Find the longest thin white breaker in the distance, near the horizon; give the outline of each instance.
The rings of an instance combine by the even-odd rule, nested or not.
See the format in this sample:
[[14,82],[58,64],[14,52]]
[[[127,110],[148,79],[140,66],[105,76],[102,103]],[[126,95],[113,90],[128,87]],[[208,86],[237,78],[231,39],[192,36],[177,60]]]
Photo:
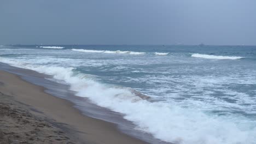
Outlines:
[[135,52],[135,51],[103,51],[103,50],[84,50],[84,49],[72,49],[72,51],[80,51],[80,52],[96,52],[96,53],[120,53],[120,54],[130,54],[130,55],[143,55],[146,52]]

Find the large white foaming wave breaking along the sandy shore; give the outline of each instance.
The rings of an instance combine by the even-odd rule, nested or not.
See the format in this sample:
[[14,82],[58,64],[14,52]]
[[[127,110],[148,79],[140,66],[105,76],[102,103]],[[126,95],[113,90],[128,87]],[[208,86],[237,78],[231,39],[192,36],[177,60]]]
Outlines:
[[183,108],[174,101],[150,102],[137,97],[137,92],[129,88],[97,82],[71,67],[32,65],[4,58],[0,61],[65,81],[77,96],[124,113],[124,118],[135,123],[137,130],[151,133],[162,141],[180,144],[253,144],[256,141],[255,125],[246,125],[248,120],[244,117],[206,115],[193,107]]

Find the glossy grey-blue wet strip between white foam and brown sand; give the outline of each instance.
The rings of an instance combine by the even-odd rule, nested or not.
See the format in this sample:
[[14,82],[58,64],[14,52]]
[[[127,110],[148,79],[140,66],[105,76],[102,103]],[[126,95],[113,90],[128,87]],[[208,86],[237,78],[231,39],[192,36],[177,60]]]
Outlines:
[[155,139],[151,134],[142,133],[141,131],[135,130],[136,125],[130,121],[127,121],[126,119],[123,119],[123,114],[110,111],[105,107],[97,106],[91,103],[88,98],[75,96],[75,92],[70,91],[68,85],[51,81],[50,75],[40,74],[33,70],[12,67],[4,63],[0,63],[0,70],[5,70],[9,73],[19,75],[21,79],[44,87],[44,92],[71,101],[73,104],[75,104],[74,107],[80,110],[80,112],[86,116],[116,124],[117,128],[127,135],[136,137],[137,139],[141,139],[148,143],[168,143]]

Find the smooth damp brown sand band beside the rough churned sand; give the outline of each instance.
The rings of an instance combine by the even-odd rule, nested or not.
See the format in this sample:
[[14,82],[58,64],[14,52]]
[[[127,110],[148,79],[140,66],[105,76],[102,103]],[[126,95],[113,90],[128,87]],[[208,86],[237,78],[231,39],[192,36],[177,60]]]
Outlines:
[[24,81],[18,75],[0,70],[0,78],[0,92],[28,105],[34,109],[29,112],[44,117],[45,122],[54,122],[76,143],[146,143],[121,133],[115,124],[83,115],[68,100],[47,94],[43,87]]

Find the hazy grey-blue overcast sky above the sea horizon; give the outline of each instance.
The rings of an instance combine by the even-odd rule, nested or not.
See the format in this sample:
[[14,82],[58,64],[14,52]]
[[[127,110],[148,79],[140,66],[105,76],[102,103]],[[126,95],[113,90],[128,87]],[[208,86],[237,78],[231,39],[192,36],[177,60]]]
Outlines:
[[256,45],[255,0],[0,0],[0,44]]

